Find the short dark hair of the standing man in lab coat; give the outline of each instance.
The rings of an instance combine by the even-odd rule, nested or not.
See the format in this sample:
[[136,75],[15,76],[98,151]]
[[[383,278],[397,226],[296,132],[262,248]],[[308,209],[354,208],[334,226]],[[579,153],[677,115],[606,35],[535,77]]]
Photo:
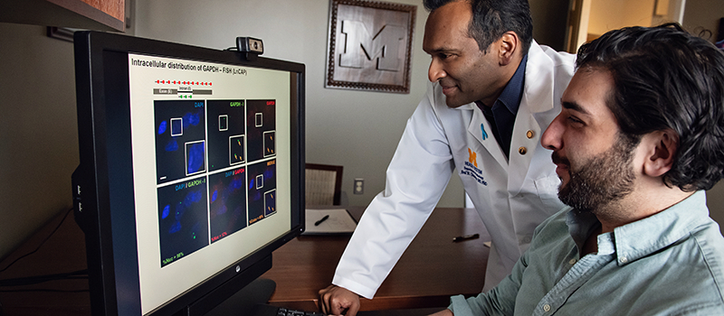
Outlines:
[[472,19],[468,34],[478,42],[481,51],[487,53],[492,42],[512,31],[520,38],[523,54],[528,53],[533,41],[533,20],[528,0],[424,0],[423,5],[427,11],[433,12],[456,1],[471,4]]

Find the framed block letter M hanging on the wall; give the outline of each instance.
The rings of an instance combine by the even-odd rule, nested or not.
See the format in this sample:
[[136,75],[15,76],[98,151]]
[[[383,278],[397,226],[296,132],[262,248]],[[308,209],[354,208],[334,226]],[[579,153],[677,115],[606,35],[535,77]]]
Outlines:
[[325,88],[410,93],[416,5],[329,1]]

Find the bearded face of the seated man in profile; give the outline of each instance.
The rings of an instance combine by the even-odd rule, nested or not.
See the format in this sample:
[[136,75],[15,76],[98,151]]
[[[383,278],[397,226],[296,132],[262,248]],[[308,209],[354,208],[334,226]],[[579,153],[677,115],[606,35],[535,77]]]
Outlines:
[[541,144],[553,150],[561,179],[558,197],[576,209],[595,212],[633,191],[637,142],[619,133],[606,107],[613,88],[608,71],[576,71],[561,98],[561,113],[541,137]]

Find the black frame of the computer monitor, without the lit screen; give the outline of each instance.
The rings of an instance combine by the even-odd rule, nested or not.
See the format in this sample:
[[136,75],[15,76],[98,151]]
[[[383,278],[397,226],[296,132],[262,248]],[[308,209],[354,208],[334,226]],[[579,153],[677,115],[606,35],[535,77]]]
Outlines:
[[[271,252],[304,230],[304,87],[303,64],[255,58],[116,33],[78,32],[75,42],[76,97],[81,163],[73,173],[75,219],[86,236],[93,315],[138,315],[135,204],[133,192],[128,53],[204,60],[291,71],[291,228],[281,237],[239,258],[233,265],[188,289],[149,314],[204,314],[271,268]],[[125,56],[125,57],[124,57]],[[125,60],[124,60],[125,59]],[[128,66],[125,66],[128,69]],[[122,72],[122,71],[116,71]],[[124,91],[124,88],[125,91]],[[296,102],[294,102],[296,101]],[[114,145],[109,145],[114,144]],[[295,185],[298,184],[298,185]]]

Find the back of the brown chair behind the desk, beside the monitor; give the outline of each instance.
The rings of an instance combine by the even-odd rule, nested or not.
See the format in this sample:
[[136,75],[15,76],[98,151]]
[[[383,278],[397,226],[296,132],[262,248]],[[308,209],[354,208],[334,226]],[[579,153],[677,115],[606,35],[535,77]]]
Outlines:
[[340,204],[343,168],[338,165],[307,163],[307,206]]

